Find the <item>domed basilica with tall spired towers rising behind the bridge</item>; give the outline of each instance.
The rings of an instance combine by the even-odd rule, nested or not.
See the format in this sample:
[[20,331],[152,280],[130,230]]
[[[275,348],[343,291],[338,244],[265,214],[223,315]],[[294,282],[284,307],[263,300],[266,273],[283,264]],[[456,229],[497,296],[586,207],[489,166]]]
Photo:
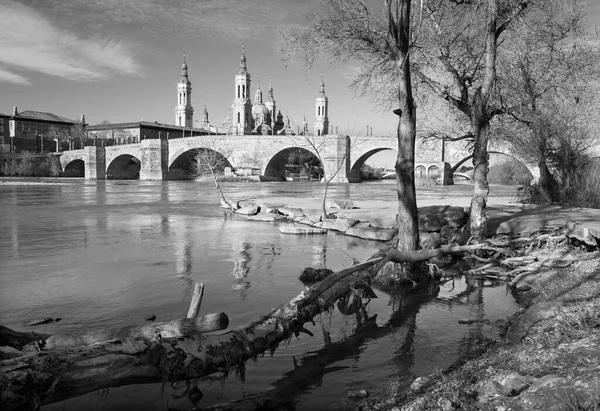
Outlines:
[[[263,92],[260,89],[260,81],[254,92],[254,100],[250,98],[250,73],[246,67],[246,55],[242,46],[240,67],[234,80],[234,98],[229,109],[229,115],[221,126],[213,126],[208,121],[208,112],[204,107],[202,122],[199,125],[210,133],[234,134],[234,135],[294,135],[309,134],[306,118],[302,121],[302,127],[293,130],[290,127],[290,119],[284,121],[281,110],[277,110],[277,104],[273,97],[273,85],[269,79],[266,101],[263,100]],[[325,82],[321,77],[319,94],[315,100],[315,128],[314,134],[326,135],[329,133],[329,108],[328,99],[325,95]],[[194,128],[194,108],[192,107],[192,82],[188,76],[188,67],[183,56],[181,66],[181,77],[177,83],[177,105],[175,106],[175,125],[183,128]]]

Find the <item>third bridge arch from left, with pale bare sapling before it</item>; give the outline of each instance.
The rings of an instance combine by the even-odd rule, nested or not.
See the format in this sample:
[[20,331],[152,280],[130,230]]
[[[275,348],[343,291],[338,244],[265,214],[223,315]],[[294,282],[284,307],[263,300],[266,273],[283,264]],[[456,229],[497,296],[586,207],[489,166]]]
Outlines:
[[[200,155],[202,158],[198,158]],[[210,168],[222,172],[225,167],[232,167],[231,162],[217,150],[207,147],[181,148],[169,158],[169,179],[194,179],[210,173]]]

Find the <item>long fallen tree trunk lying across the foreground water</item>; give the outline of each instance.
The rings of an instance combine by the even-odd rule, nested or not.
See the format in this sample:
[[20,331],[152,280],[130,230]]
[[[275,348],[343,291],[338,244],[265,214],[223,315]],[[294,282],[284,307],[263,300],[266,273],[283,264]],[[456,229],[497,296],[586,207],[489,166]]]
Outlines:
[[[374,277],[387,261],[425,261],[443,253],[484,249],[498,251],[486,244],[474,244],[436,250],[382,252],[376,258],[332,274],[259,320],[221,335],[188,336],[186,327],[193,323],[193,331],[199,320],[184,319],[175,322],[184,329],[177,337],[166,337],[171,334],[165,332],[163,335],[162,329],[157,332],[159,324],[150,324],[142,327],[150,327],[147,333],[138,329],[126,333],[124,338],[96,340],[92,345],[73,346],[65,342],[51,345],[47,339],[46,348],[40,345],[40,353],[24,353],[0,362],[0,402],[6,410],[36,409],[108,387],[200,378],[219,371],[241,370],[245,361],[274,351],[293,335],[312,335],[304,328],[306,322],[332,309],[354,284]],[[367,269],[369,271],[365,271]]]

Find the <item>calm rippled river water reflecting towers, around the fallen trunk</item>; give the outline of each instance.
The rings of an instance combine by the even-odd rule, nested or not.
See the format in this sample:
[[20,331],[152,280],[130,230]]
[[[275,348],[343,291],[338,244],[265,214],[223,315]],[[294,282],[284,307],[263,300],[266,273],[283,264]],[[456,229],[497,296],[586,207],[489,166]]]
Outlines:
[[[232,198],[320,197],[314,183],[228,183]],[[395,201],[394,182],[339,185],[332,197]],[[471,187],[421,187],[419,198],[443,198]],[[41,333],[83,332],[185,316],[193,285],[205,284],[201,313],[225,311],[230,329],[288,302],[306,266],[333,270],[364,261],[380,245],[329,233],[280,234],[277,224],[247,221],[219,209],[214,187],[192,181],[58,180],[0,185],[0,324]],[[481,284],[479,284],[481,285]],[[378,291],[369,325],[339,312],[246,366],[245,380],[202,381],[199,406],[275,389],[296,410],[353,409],[352,389],[406,389],[446,368],[497,330],[493,321],[517,306],[503,286],[457,279],[438,292]],[[460,325],[485,318],[492,325]],[[60,322],[26,327],[32,318]],[[147,384],[91,393],[47,410],[189,409],[181,387]]]

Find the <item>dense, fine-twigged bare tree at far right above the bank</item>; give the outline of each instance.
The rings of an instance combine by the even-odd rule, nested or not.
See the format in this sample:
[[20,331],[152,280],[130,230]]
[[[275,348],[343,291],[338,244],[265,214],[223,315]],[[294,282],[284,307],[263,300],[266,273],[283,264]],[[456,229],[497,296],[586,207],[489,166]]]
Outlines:
[[[569,7],[539,4],[509,37],[499,59],[507,129],[503,139],[540,169],[546,201],[558,200],[558,183],[570,186],[591,144],[587,125],[598,116],[598,46],[585,32],[585,0]],[[569,158],[569,160],[567,160]]]

